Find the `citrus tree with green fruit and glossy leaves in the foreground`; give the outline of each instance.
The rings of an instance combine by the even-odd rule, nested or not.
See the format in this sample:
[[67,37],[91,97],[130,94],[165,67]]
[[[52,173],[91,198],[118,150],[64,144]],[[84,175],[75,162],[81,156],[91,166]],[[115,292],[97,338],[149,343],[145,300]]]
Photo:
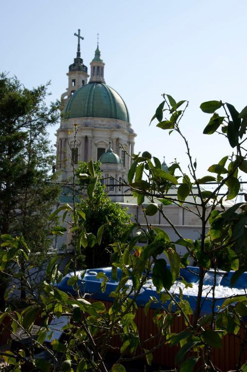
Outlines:
[[[178,346],[177,354],[173,360],[171,370],[180,372],[190,371],[219,371],[214,363],[212,354],[214,348],[220,347],[222,340],[228,334],[237,335],[240,342],[239,355],[235,356],[235,371],[246,371],[247,365],[242,358],[247,340],[247,295],[231,294],[215,306],[215,287],[220,267],[226,272],[233,270],[231,286],[246,271],[246,257],[244,248],[247,240],[247,204],[244,202],[234,204],[226,209],[224,198],[234,200],[237,196],[239,183],[239,170],[247,172],[247,150],[245,149],[247,108],[238,112],[231,104],[222,101],[204,102],[200,108],[212,114],[204,134],[213,135],[215,132],[226,137],[232,147],[232,154],[225,155],[208,169],[210,174],[197,177],[197,163],[192,158],[189,144],[182,134],[180,122],[188,106],[187,101],[176,102],[170,95],[164,95],[163,101],[157,108],[152,121],[158,120],[157,126],[163,130],[176,132],[184,140],[188,155],[189,172],[184,172],[180,164],[175,161],[168,169],[163,171],[158,158],[152,157],[148,152],[142,155],[132,155],[133,163],[128,175],[128,185],[137,199],[138,205],[143,208],[146,226],[137,222],[129,223],[122,233],[120,241],[111,246],[113,253],[110,257],[112,264],[111,278],[104,272],[98,273],[101,292],[106,291],[109,279],[115,281],[116,286],[110,294],[112,302],[106,304],[102,301],[85,299],[83,286],[80,280],[85,272],[77,272],[67,277],[67,285],[76,297],[58,289],[57,283],[62,280],[56,259],[53,259],[47,269],[47,280],[43,285],[43,294],[40,298],[33,296],[25,310],[12,312],[11,306],[0,315],[0,321],[10,317],[9,327],[12,332],[17,327],[31,332],[37,316],[43,320],[37,339],[32,339],[28,358],[23,350],[16,348],[11,352],[3,352],[3,358],[9,362],[9,370],[20,371],[25,363],[41,371],[111,371],[124,372],[128,361],[146,358],[151,364],[152,354],[158,348]],[[166,117],[163,118],[164,112]],[[90,177],[91,176],[91,177]],[[89,198],[97,185],[98,177],[95,174],[92,161],[88,163],[88,173],[82,177],[89,178],[87,186]],[[201,185],[215,182],[213,191],[205,191]],[[175,187],[176,195],[168,196],[171,187]],[[227,189],[223,196],[222,188]],[[190,201],[185,202],[190,196]],[[148,199],[146,205],[145,198]],[[144,204],[145,202],[145,204]],[[196,214],[201,221],[200,238],[198,240],[186,239],[166,215],[166,205],[175,203],[187,212]],[[92,242],[100,245],[103,236],[103,225],[97,233],[90,235],[85,229],[80,231],[79,217],[85,218],[82,211],[73,206],[64,205],[53,213],[51,218],[64,211],[64,217],[71,214],[72,229],[78,232],[75,254],[81,252]],[[177,238],[171,240],[168,234],[149,223],[149,216],[161,213],[176,233]],[[74,225],[73,225],[74,224]],[[56,228],[62,233],[64,227]],[[4,244],[0,252],[0,269],[4,270],[6,262],[18,261],[21,255],[28,256],[28,247],[23,239],[2,237]],[[140,247],[138,241],[146,243]],[[186,248],[182,257],[177,247]],[[166,260],[161,257],[163,255]],[[192,283],[181,277],[181,272],[191,273],[188,267],[191,258],[198,266],[198,287],[196,293],[195,309],[191,308],[183,289],[191,287]],[[169,260],[169,265],[166,261]],[[185,270],[185,271],[184,271]],[[213,281],[206,293],[203,294],[203,282],[209,270],[213,273]],[[180,279],[180,286],[176,294],[173,285]],[[63,279],[65,280],[65,279]],[[154,295],[150,296],[144,311],[147,315],[153,303],[156,310],[153,322],[156,325],[155,333],[149,334],[148,340],[140,337],[140,328],[136,324],[137,300],[144,286],[154,287]],[[204,316],[202,307],[205,299],[210,296],[211,312]],[[56,315],[66,315],[68,324],[63,328],[66,338],[63,342],[54,340],[48,348],[44,343],[46,336],[51,332],[49,320]],[[172,332],[171,327],[178,317],[184,321],[184,328],[179,332]],[[239,330],[242,329],[240,336]],[[119,355],[114,365],[107,367],[105,363],[107,352],[112,349],[111,340],[117,337],[120,343]],[[147,347],[148,341],[152,347]],[[34,357],[34,346],[38,350],[45,350],[48,359]],[[175,366],[175,367],[174,367]]]

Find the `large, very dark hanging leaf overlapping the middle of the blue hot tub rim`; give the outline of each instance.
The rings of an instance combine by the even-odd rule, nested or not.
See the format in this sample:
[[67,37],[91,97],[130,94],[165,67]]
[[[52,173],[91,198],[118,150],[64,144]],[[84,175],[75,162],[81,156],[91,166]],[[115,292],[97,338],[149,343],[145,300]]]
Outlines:
[[152,271],[153,285],[156,287],[157,293],[160,293],[163,288],[170,289],[172,285],[172,274],[166,267],[166,262],[163,258],[155,261]]

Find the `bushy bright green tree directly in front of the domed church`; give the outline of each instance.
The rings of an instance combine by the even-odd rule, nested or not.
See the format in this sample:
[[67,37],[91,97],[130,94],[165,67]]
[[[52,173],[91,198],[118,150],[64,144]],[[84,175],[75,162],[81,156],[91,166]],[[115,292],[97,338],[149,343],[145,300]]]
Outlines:
[[[90,165],[90,169],[88,169],[88,165]],[[99,166],[99,161],[93,164],[94,172],[100,178]],[[92,180],[95,180],[93,169],[90,163],[79,164],[76,173],[82,190],[92,185]],[[85,178],[80,174],[88,174],[89,177]],[[87,233],[97,236],[100,226],[105,225],[101,244],[99,245],[97,242],[93,247],[89,246],[83,252],[87,267],[109,266],[112,252],[109,245],[120,241],[126,224],[130,222],[126,211],[119,204],[112,202],[104,189],[105,187],[98,180],[94,187],[94,196],[87,195],[78,204],[78,209],[85,213],[85,220],[80,220],[80,226],[83,226]]]

